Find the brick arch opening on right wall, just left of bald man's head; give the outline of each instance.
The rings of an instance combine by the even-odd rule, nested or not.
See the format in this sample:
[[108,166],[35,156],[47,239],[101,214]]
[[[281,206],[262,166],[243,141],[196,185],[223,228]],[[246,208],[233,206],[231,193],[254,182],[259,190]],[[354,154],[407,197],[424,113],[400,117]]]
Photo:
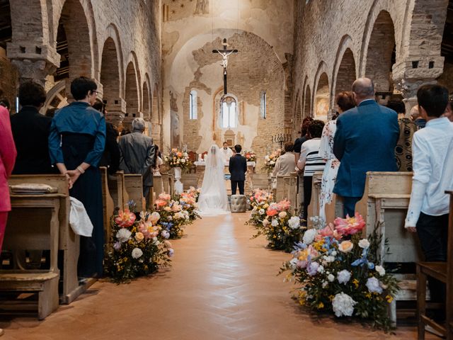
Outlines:
[[344,35],[338,46],[335,63],[333,64],[331,86],[331,108],[335,97],[341,91],[351,91],[352,82],[357,79],[357,69],[352,52],[352,39]]

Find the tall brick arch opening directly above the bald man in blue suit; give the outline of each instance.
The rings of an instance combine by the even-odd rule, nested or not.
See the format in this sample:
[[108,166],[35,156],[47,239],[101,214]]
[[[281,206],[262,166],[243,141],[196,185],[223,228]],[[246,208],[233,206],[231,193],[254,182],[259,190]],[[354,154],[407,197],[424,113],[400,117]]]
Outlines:
[[381,11],[374,21],[371,38],[367,44],[365,77],[374,81],[377,92],[393,93],[391,77],[396,62],[395,28],[390,13]]

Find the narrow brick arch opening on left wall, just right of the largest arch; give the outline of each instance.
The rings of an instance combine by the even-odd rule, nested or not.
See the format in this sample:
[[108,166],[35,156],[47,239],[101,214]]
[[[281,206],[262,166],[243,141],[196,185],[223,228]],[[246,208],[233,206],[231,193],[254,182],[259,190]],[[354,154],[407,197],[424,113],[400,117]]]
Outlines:
[[108,120],[118,123],[125,112],[124,101],[121,98],[121,69],[117,54],[117,45],[113,38],[104,42],[101,59],[100,80],[103,85],[103,100],[108,111]]

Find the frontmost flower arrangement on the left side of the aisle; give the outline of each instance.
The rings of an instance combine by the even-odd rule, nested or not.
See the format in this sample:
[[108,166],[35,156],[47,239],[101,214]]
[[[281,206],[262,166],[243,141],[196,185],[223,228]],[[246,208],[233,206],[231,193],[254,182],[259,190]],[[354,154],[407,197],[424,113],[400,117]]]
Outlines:
[[116,283],[125,283],[170,264],[174,251],[159,220],[157,212],[141,212],[137,219],[129,209],[112,217],[110,246],[104,261],[106,276]]

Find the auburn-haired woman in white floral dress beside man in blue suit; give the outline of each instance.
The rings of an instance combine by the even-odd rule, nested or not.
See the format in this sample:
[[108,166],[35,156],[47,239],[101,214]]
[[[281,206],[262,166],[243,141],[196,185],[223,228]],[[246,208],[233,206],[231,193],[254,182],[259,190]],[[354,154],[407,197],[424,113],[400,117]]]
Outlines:
[[[340,92],[336,96],[336,104],[338,106],[338,116],[353,108],[355,103],[352,100],[352,93]],[[333,154],[333,136],[335,136],[336,128],[337,122],[333,119],[324,125],[321,135],[321,146],[319,147],[319,157],[326,162],[321,181],[321,193],[319,193],[319,217],[324,222],[326,222],[326,205],[332,202],[333,186],[335,186],[338,167],[340,166],[340,161]]]

